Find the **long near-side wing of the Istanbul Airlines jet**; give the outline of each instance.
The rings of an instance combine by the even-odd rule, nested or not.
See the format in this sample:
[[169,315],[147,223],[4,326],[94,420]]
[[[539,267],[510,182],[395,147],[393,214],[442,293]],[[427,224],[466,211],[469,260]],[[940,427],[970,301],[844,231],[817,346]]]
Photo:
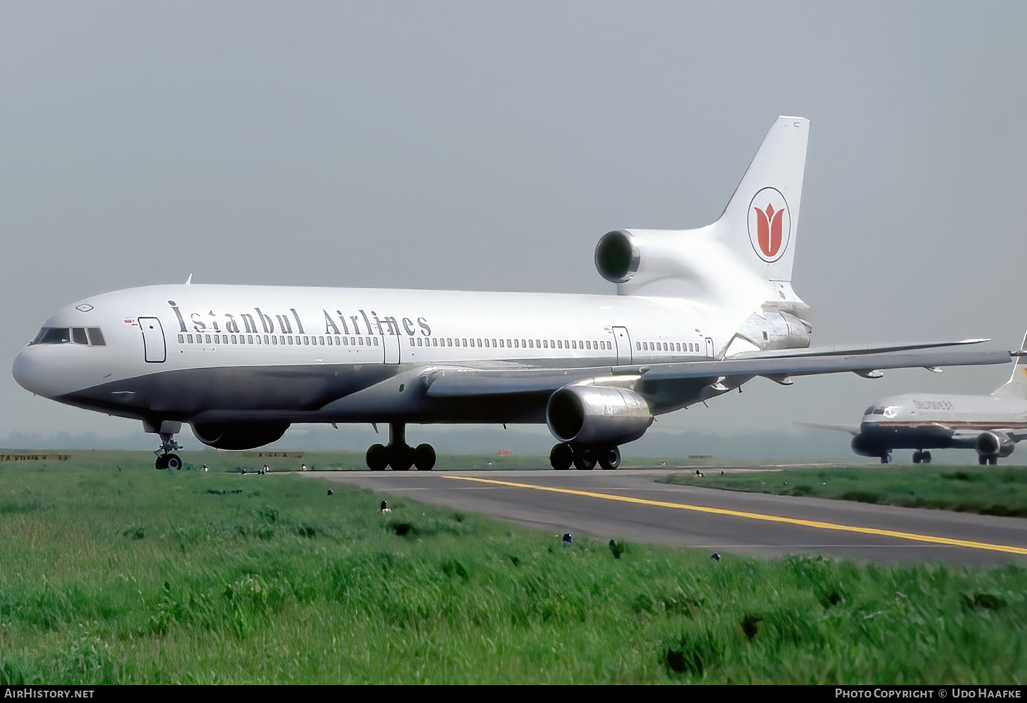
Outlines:
[[953,351],[925,349],[915,353],[825,355],[815,357],[770,357],[722,361],[633,364],[575,369],[433,369],[425,374],[427,395],[433,398],[461,398],[519,393],[551,393],[568,383],[602,376],[640,377],[644,384],[684,379],[710,379],[711,383],[731,377],[766,376],[788,383],[790,376],[852,371],[868,375],[880,369],[935,368],[940,366],[981,366],[1006,364],[1009,351]]

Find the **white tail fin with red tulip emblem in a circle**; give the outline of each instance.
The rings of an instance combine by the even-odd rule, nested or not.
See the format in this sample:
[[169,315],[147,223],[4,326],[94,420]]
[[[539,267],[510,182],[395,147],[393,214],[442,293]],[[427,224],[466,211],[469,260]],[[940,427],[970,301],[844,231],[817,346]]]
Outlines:
[[717,238],[766,281],[791,281],[809,120],[778,117],[724,213]]

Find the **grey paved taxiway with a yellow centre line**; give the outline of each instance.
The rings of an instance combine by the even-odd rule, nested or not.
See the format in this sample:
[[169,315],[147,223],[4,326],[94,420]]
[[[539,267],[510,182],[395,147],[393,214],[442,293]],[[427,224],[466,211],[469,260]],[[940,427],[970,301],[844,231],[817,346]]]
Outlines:
[[656,483],[681,469],[616,472],[312,472],[528,527],[773,557],[1027,564],[1027,519]]

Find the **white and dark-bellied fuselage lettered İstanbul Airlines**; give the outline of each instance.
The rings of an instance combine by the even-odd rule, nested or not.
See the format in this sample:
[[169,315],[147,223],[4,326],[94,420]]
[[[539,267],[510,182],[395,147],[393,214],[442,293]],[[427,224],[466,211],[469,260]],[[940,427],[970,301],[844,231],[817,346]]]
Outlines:
[[141,419],[540,421],[519,407],[476,415],[397,397],[362,412],[337,401],[426,366],[696,361],[716,356],[746,314],[681,298],[152,286],[58,311],[44,329],[99,328],[105,343],[30,344],[14,375],[33,393]]

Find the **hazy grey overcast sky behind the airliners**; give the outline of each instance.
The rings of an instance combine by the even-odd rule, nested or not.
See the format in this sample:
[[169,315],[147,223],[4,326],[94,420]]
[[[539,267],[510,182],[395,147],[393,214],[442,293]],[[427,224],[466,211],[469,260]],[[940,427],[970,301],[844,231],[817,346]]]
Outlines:
[[[0,366],[69,302],[189,272],[613,294],[597,239],[716,219],[778,114],[811,120],[794,285],[814,343],[1012,348],[1025,28],[1023,2],[3,0]],[[755,379],[632,446],[1007,375]],[[0,374],[0,444],[138,424]]]

